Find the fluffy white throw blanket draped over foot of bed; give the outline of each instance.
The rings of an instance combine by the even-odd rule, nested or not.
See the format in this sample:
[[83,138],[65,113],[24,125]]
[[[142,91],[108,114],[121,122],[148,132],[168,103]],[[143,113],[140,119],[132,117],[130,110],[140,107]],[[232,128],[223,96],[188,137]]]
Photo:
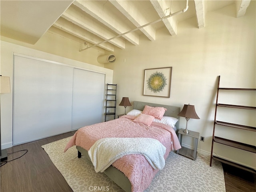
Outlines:
[[142,154],[154,169],[162,170],[165,152],[165,146],[152,138],[102,138],[88,150],[88,155],[96,172],[104,172],[112,163],[128,154]]

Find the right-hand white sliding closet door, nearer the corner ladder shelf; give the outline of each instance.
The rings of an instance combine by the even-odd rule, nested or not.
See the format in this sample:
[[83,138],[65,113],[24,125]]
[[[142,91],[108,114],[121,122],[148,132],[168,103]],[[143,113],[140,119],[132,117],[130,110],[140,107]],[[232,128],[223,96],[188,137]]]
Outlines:
[[102,122],[105,74],[74,68],[72,130]]

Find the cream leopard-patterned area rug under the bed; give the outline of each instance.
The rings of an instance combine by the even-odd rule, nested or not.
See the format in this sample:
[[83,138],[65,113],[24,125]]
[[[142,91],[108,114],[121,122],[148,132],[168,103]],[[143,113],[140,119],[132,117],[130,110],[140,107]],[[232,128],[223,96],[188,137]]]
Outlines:
[[[70,137],[43,145],[53,164],[74,192],[124,192],[104,173],[96,173],[92,163],[83,155],[77,157],[76,147],[63,150]],[[145,192],[226,192],[222,165],[199,156],[193,161],[170,152],[166,165],[154,177]]]

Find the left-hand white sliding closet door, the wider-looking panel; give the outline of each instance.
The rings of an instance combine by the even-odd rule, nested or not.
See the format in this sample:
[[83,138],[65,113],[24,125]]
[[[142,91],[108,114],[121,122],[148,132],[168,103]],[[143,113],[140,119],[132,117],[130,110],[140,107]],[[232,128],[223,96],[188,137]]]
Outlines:
[[71,130],[72,78],[72,67],[14,56],[14,145]]

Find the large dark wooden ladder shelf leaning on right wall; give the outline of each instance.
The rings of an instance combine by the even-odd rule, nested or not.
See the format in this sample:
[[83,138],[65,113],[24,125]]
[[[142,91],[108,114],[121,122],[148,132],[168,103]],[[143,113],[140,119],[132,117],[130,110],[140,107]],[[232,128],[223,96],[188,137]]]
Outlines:
[[212,159],[215,159],[215,160],[218,160],[220,162],[223,162],[223,163],[241,168],[243,170],[247,170],[247,171],[255,173],[255,170],[252,169],[252,168],[249,168],[249,167],[246,167],[244,165],[238,164],[236,162],[232,162],[232,161],[226,160],[224,158],[220,158],[220,157],[217,157],[217,156],[213,155],[214,143],[220,143],[220,144],[223,144],[223,145],[226,145],[226,146],[231,146],[231,147],[238,148],[238,149],[241,149],[241,150],[246,150],[248,152],[256,153],[256,146],[241,143],[241,142],[236,142],[236,141],[233,141],[233,140],[228,140],[228,139],[217,137],[217,136],[214,135],[216,125],[228,126],[228,127],[232,127],[232,128],[243,129],[243,130],[254,131],[254,132],[256,131],[256,127],[245,126],[245,125],[234,124],[234,123],[230,123],[230,122],[223,122],[223,121],[216,120],[217,108],[218,107],[239,108],[239,109],[245,109],[245,110],[256,110],[256,107],[253,107],[253,106],[242,106],[242,105],[231,105],[231,104],[220,104],[220,103],[218,103],[219,90],[256,91],[256,89],[252,89],[252,88],[220,88],[220,76],[218,76],[218,88],[217,88],[217,97],[216,97],[216,106],[215,106],[214,127],[213,127],[213,133],[212,133],[212,149],[211,149],[211,157],[210,157],[210,166],[212,166]]

